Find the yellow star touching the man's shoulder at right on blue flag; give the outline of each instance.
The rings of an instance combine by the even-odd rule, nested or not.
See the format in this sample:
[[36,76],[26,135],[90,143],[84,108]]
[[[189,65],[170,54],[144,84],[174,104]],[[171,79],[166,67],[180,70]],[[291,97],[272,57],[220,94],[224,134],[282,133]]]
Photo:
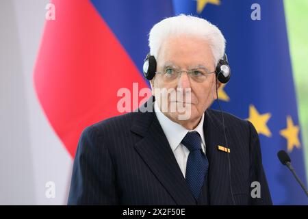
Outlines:
[[271,114],[259,114],[257,109],[254,105],[249,105],[249,120],[251,123],[253,123],[253,126],[257,130],[257,133],[263,134],[264,136],[270,137],[272,136],[272,133],[270,132],[270,129],[268,129],[268,120],[270,119]]

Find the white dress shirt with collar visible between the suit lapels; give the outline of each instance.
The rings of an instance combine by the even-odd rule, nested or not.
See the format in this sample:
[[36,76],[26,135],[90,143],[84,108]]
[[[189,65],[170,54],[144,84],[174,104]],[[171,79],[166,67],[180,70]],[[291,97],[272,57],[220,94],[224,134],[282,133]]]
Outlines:
[[159,110],[156,101],[154,102],[154,110],[157,119],[160,125],[162,126],[165,136],[170,144],[173,154],[175,155],[175,159],[177,159],[177,164],[179,164],[179,168],[181,168],[183,176],[185,177],[186,163],[190,151],[183,144],[181,144],[181,141],[189,131],[197,131],[201,136],[201,147],[203,153],[205,153],[205,139],[203,133],[204,114],[201,117],[198,126],[194,130],[188,130],[185,129],[183,126],[179,125],[178,123],[173,122],[167,116],[165,116]]

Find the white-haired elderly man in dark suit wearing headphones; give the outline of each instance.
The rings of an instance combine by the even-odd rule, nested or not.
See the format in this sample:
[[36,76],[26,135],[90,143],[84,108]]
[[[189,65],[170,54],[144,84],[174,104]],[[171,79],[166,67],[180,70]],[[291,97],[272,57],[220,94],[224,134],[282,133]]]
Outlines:
[[68,204],[272,204],[255,128],[209,109],[230,77],[220,30],[194,16],[166,18],[149,46],[147,112],[84,130]]

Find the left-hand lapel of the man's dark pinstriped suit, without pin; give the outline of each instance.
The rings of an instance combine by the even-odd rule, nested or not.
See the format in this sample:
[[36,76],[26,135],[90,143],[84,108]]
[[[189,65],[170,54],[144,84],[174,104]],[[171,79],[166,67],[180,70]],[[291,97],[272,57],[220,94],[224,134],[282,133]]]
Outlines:
[[135,149],[175,203],[196,205],[155,112],[137,112],[131,131],[143,136]]

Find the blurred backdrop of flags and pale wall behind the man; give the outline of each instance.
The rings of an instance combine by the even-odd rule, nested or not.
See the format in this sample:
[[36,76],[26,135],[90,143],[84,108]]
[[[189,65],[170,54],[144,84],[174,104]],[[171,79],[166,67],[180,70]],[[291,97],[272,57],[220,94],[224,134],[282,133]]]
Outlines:
[[118,88],[149,86],[147,34],[185,13],[227,40],[222,109],[259,127],[274,204],[307,205],[276,157],[290,153],[307,185],[307,11],[307,0],[0,0],[0,204],[66,204],[82,129],[120,114]]

